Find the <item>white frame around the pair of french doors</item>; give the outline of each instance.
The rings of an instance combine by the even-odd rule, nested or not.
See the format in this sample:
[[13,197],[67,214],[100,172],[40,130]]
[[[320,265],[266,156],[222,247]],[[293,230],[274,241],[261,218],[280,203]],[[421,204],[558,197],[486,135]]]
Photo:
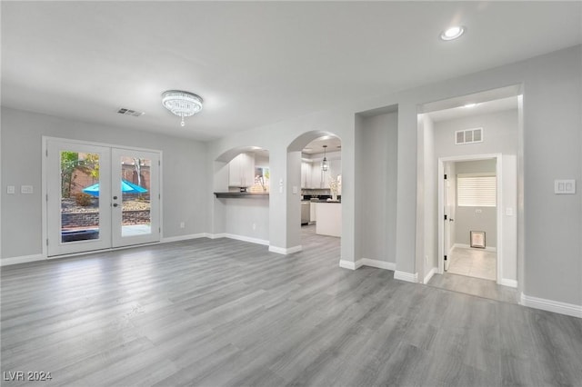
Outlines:
[[125,145],[120,145],[120,144],[99,143],[99,142],[95,142],[95,141],[75,140],[75,139],[70,139],[70,138],[52,137],[52,136],[48,136],[48,135],[43,135],[42,136],[42,152],[43,152],[42,153],[42,160],[43,160],[43,162],[41,165],[41,174],[42,174],[41,188],[42,188],[42,245],[43,245],[43,258],[44,259],[56,259],[56,258],[62,258],[64,256],[75,256],[75,255],[81,255],[81,254],[92,253],[92,252],[97,252],[97,251],[121,250],[121,249],[127,249],[127,248],[131,248],[131,247],[135,247],[136,245],[139,245],[139,244],[134,244],[134,245],[129,245],[129,246],[109,247],[109,248],[105,248],[102,250],[91,250],[91,251],[86,251],[86,252],[82,252],[82,253],[53,255],[50,257],[48,256],[48,245],[47,245],[47,243],[48,243],[48,189],[47,189],[48,165],[47,164],[48,164],[48,142],[49,141],[57,141],[57,142],[70,143],[70,144],[81,144],[81,145],[105,146],[105,147],[109,147],[109,148],[123,148],[123,149],[127,149],[129,151],[152,152],[152,153],[159,154],[160,167],[159,167],[158,193],[160,195],[159,196],[160,241],[154,242],[154,243],[144,243],[144,244],[157,244],[157,243],[161,243],[164,240],[164,227],[162,227],[162,220],[164,219],[164,217],[163,217],[164,205],[162,203],[162,200],[164,198],[164,193],[163,193],[164,184],[163,184],[163,172],[162,172],[162,167],[161,167],[162,160],[163,160],[163,152],[161,150],[149,149],[149,148],[140,148],[140,147],[134,147],[134,146],[125,146]]

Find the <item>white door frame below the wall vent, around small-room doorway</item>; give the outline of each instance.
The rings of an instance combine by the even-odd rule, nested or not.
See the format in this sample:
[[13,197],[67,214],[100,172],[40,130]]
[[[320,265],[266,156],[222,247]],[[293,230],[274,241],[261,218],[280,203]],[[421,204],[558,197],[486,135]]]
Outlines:
[[502,272],[503,267],[503,230],[501,226],[501,219],[503,215],[503,168],[502,168],[502,154],[467,154],[463,156],[448,156],[438,158],[438,267],[437,273],[445,273],[445,255],[449,252],[445,251],[445,226],[443,219],[445,218],[445,179],[443,175],[445,174],[445,163],[448,162],[466,162],[466,161],[478,161],[478,160],[490,160],[496,159],[496,183],[497,183],[497,219],[496,219],[496,233],[497,233],[497,262],[496,262],[496,282],[502,284]]

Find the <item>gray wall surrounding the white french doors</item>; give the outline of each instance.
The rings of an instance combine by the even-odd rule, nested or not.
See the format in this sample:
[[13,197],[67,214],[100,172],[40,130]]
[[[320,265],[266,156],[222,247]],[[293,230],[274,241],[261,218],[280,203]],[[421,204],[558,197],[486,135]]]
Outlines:
[[[122,117],[127,118],[127,117]],[[42,253],[42,136],[161,150],[162,233],[206,232],[206,146],[192,140],[2,108],[2,258]],[[6,185],[33,194],[5,194]],[[177,205],[176,205],[177,204]],[[186,223],[184,229],[180,222]]]

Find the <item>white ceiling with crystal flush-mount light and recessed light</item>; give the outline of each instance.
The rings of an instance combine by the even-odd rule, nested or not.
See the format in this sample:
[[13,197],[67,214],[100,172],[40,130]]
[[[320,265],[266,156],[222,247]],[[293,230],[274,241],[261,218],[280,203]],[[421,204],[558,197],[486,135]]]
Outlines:
[[[3,105],[199,140],[582,43],[579,1],[1,7]],[[466,35],[441,41],[451,24]],[[205,99],[184,128],[168,89]]]

